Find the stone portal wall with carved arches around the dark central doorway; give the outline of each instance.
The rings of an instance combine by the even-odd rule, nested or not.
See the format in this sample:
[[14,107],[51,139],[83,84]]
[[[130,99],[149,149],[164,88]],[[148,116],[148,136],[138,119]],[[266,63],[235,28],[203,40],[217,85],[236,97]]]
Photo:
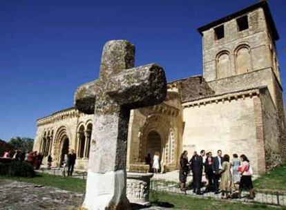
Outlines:
[[[165,171],[178,168],[182,149],[182,104],[178,93],[169,91],[162,104],[131,111],[128,128],[127,171],[142,166],[146,149],[151,146],[149,133],[155,131],[160,136],[158,148],[162,167]],[[153,158],[153,154],[151,154]]]

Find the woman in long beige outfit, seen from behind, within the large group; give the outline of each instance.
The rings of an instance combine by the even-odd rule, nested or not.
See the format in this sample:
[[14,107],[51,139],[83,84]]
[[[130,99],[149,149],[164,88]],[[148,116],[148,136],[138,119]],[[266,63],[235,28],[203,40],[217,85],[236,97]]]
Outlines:
[[231,175],[231,163],[229,162],[229,155],[223,156],[222,169],[220,169],[221,181],[220,190],[222,191],[222,199],[229,198],[232,191],[235,190],[233,179]]

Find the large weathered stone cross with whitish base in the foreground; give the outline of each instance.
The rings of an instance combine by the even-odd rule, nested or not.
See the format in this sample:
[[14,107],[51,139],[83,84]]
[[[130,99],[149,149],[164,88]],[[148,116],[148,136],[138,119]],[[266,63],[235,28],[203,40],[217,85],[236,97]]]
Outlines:
[[162,67],[133,68],[135,46],[125,40],[104,45],[99,79],[79,86],[75,106],[95,114],[91,135],[87,209],[129,209],[126,198],[126,148],[130,110],[159,104],[166,97]]

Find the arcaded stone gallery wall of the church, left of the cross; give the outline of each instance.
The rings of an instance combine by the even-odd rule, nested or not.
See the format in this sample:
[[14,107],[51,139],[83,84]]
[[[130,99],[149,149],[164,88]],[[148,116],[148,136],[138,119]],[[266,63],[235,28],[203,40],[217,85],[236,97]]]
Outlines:
[[[37,136],[35,137],[34,151],[44,152],[44,138],[51,140],[49,152],[53,158],[53,166],[59,166],[61,149],[66,138],[68,139],[68,150],[74,149],[78,155],[79,150],[79,126],[87,127],[92,124],[93,115],[84,115],[75,111],[75,108],[68,108],[37,120]],[[46,164],[47,156],[43,163]],[[88,159],[77,157],[76,169],[87,169]]]

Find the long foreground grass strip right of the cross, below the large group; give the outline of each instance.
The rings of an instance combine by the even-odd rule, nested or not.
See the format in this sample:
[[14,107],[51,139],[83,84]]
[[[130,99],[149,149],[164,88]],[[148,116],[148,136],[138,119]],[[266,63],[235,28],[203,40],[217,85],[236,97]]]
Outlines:
[[249,210],[249,209],[283,209],[279,207],[269,207],[265,204],[241,204],[227,202],[225,200],[198,199],[186,195],[174,195],[159,191],[151,191],[150,201],[153,205],[175,209],[192,210]]

